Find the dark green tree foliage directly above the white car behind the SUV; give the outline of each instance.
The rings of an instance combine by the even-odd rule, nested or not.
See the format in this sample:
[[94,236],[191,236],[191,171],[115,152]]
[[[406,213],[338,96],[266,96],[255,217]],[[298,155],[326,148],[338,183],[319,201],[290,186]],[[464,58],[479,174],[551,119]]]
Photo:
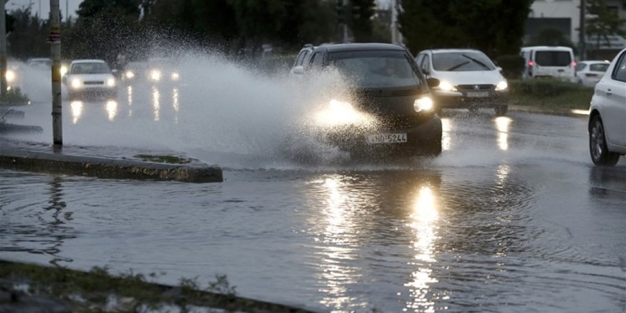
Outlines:
[[406,1],[399,23],[413,53],[429,48],[475,48],[493,58],[519,53],[532,2]]

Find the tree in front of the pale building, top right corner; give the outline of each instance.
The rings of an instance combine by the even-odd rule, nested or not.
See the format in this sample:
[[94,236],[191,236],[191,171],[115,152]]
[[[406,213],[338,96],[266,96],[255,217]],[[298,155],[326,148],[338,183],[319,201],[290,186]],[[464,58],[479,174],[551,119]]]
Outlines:
[[610,36],[626,38],[626,30],[623,29],[626,19],[620,18],[617,11],[607,6],[606,0],[587,0],[587,18],[585,34],[596,40],[596,48],[601,44],[611,46]]

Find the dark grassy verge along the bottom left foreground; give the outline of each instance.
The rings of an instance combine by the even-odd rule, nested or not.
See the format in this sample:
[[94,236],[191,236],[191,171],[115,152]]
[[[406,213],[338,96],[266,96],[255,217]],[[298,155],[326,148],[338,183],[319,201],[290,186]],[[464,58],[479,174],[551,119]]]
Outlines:
[[[156,277],[155,274],[148,276]],[[111,306],[112,302],[114,305],[123,305],[115,312],[170,312],[172,306],[177,307],[178,312],[189,312],[193,307],[217,308],[227,312],[309,312],[237,297],[235,287],[228,283],[225,275],[216,277],[215,282],[209,282],[209,287],[202,290],[195,279],[181,279],[180,285],[174,287],[148,282],[144,275],[133,272],[116,276],[100,267],[81,272],[63,267],[0,260],[0,279],[3,284],[0,287],[2,290],[11,290],[11,298],[16,304],[19,304],[21,297],[44,295],[69,305],[71,312],[109,312],[106,307]],[[7,282],[13,285],[8,286]],[[28,286],[26,292],[17,291],[24,285]]]

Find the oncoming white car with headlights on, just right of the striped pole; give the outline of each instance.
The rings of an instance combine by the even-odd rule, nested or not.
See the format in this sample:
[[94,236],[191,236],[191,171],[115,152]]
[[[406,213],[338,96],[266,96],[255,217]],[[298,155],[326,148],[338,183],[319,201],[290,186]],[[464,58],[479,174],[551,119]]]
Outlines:
[[108,64],[101,59],[71,61],[63,76],[70,99],[77,96],[116,96],[117,81]]

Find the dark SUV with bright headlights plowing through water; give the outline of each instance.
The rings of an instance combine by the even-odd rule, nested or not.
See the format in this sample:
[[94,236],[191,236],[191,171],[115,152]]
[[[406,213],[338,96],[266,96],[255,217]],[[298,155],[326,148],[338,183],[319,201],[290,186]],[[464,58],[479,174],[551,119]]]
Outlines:
[[312,119],[324,140],[352,155],[441,153],[441,120],[429,88],[439,81],[426,80],[407,49],[384,43],[306,48],[310,58],[290,73],[306,78],[334,71],[347,82]]

